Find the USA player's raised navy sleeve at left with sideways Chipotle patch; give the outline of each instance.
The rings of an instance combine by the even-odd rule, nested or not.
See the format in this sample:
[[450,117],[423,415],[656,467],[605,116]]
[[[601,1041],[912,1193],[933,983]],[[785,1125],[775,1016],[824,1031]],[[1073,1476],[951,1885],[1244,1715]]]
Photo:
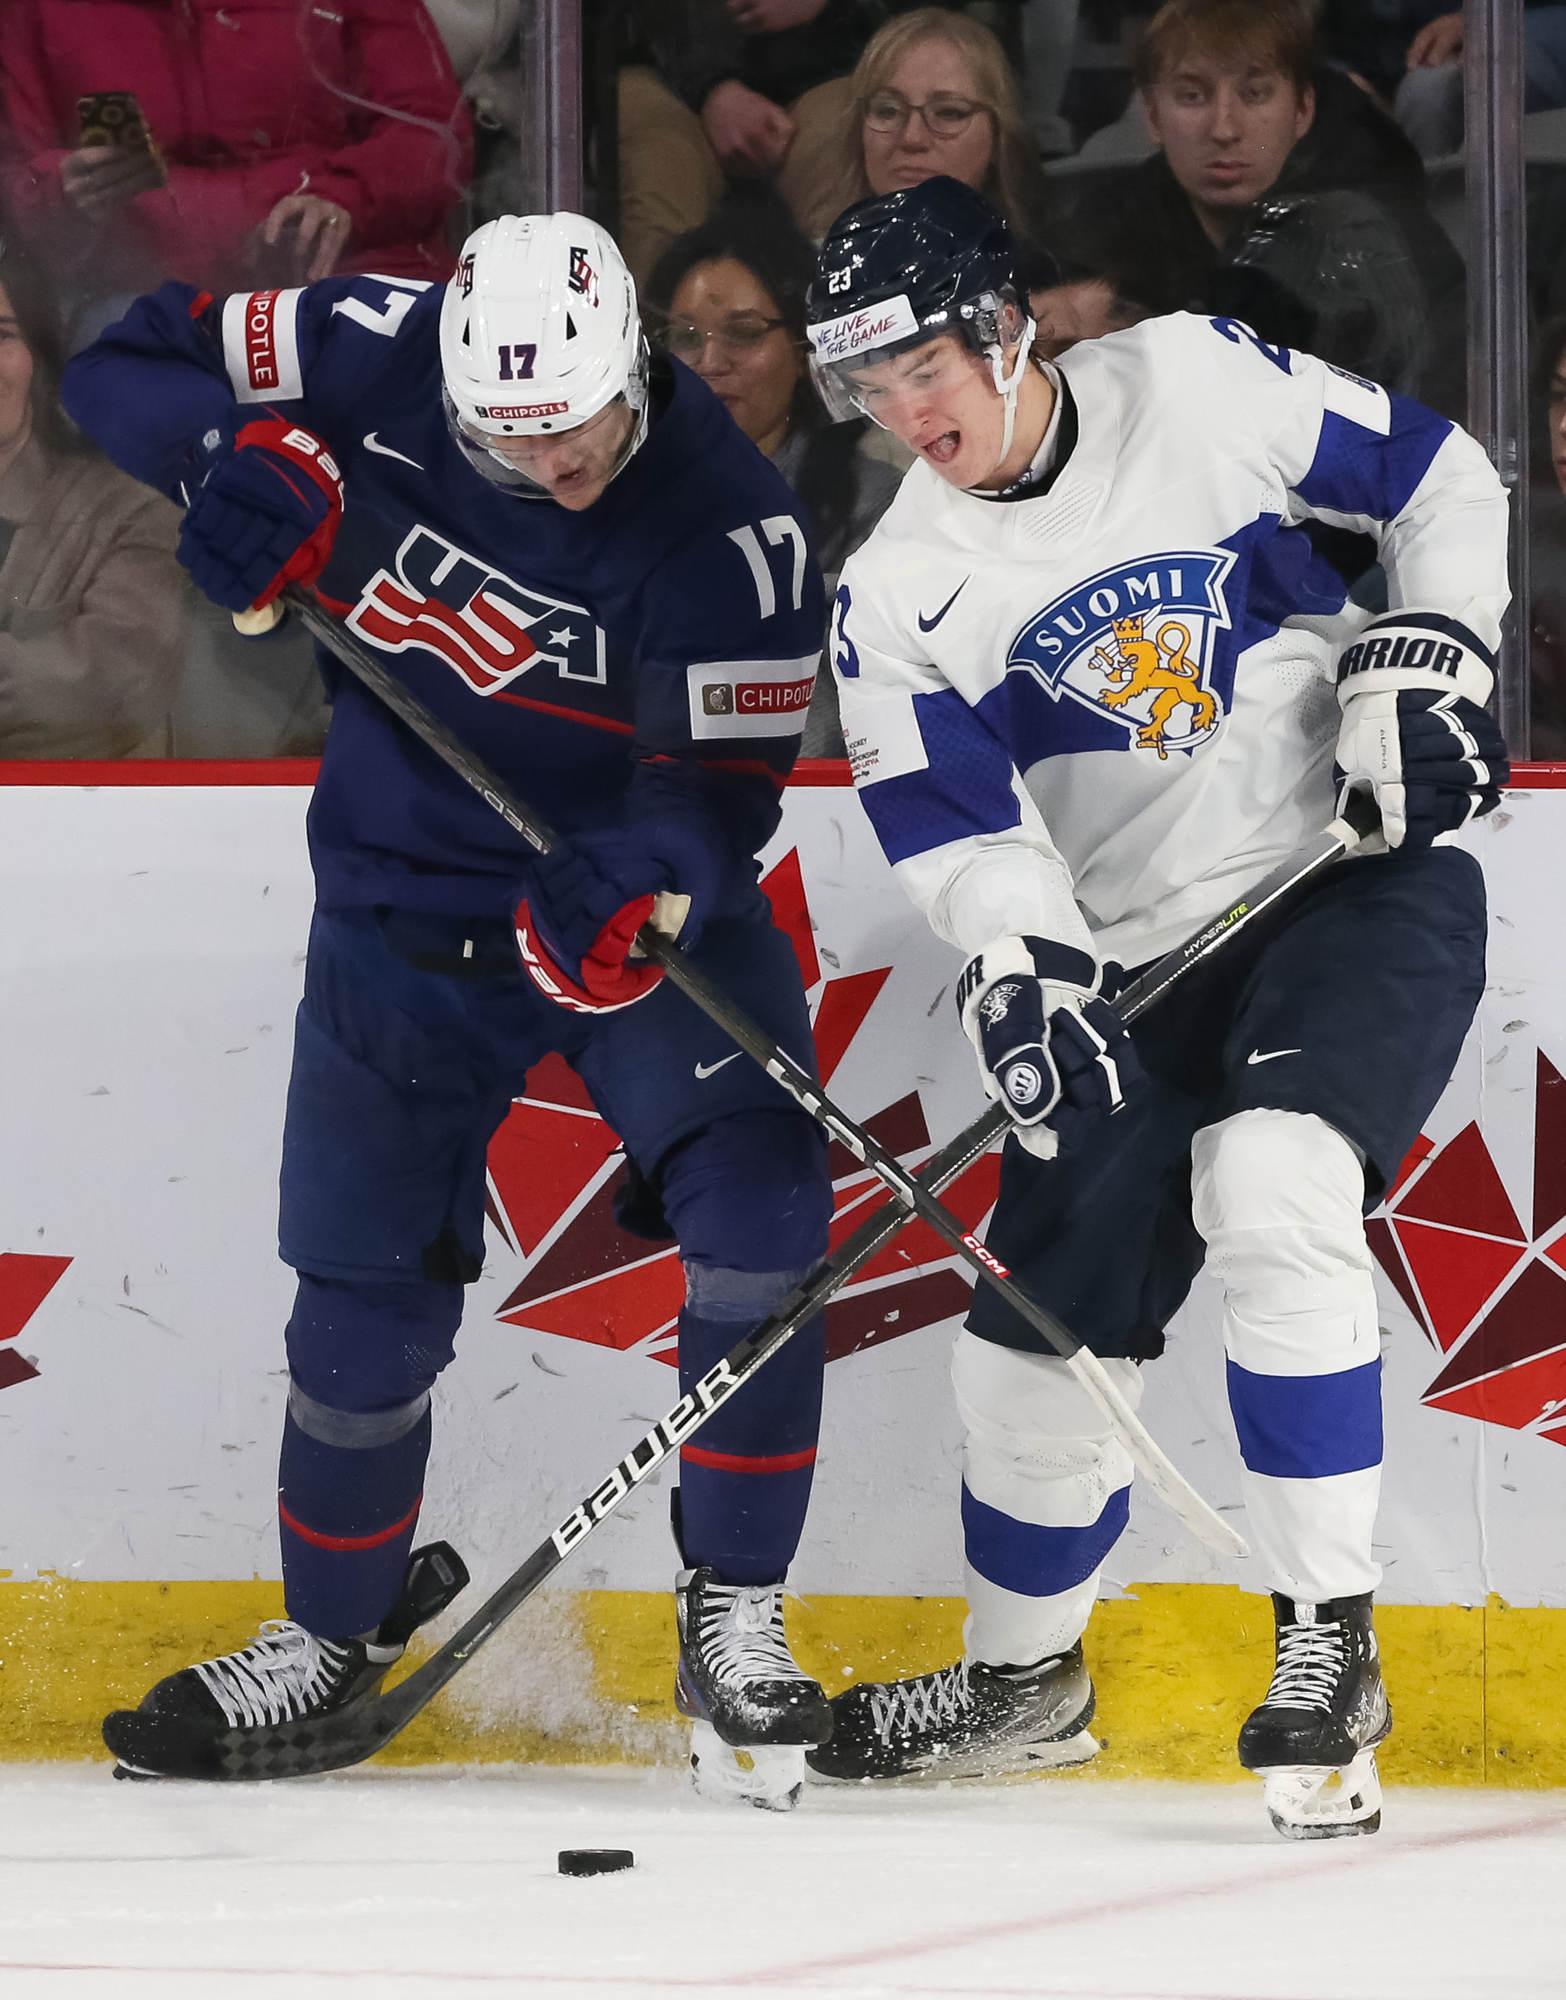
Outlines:
[[60,396],[122,472],[184,504],[212,432],[262,414],[308,426],[322,372],[376,366],[426,290],[424,278],[324,278],[218,300],[162,284],[66,366]]

